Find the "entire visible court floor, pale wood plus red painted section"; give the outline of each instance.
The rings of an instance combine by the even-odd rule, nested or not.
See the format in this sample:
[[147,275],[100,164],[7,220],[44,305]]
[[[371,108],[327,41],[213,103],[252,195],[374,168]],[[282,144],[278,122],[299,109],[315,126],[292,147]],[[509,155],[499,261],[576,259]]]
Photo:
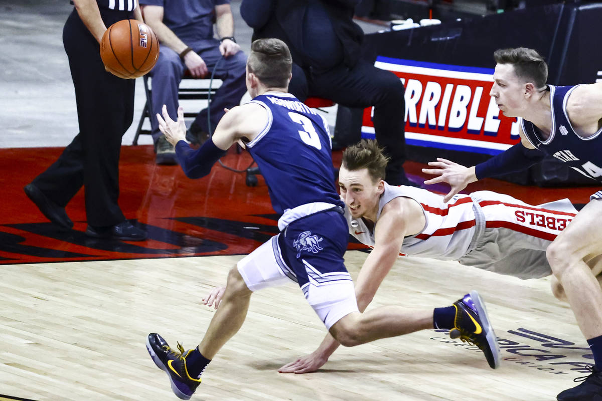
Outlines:
[[[200,341],[214,313],[203,296],[276,232],[265,183],[247,188],[244,174],[219,167],[188,180],[177,167],[154,165],[151,147],[123,147],[120,205],[149,230],[149,240],[91,241],[83,236],[82,193],[67,206],[75,227],[61,232],[22,192],[58,153],[0,150],[0,170],[11,172],[0,177],[0,400],[176,399],[146,352],[146,335],[159,332],[186,348]],[[250,159],[230,154],[224,161],[243,169]],[[414,178],[420,167],[406,163]],[[563,197],[585,203],[596,190],[495,180],[469,188],[479,189],[532,204]],[[354,276],[366,256],[361,248],[350,243],[346,254]],[[339,349],[306,375],[276,370],[314,350],[325,329],[294,284],[264,290],[253,296],[246,323],[209,365],[193,399],[554,400],[585,375],[591,359],[573,314],[548,286],[545,279],[402,258],[371,307],[447,306],[479,290],[500,340],[500,369],[489,369],[479,350],[429,330]]]

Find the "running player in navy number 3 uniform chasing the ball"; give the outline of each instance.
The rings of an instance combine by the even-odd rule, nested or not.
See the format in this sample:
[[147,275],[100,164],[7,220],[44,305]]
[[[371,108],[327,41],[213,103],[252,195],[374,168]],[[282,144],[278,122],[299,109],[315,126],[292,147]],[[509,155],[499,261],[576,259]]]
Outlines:
[[[181,108],[177,121],[165,108],[163,118],[157,115],[160,130],[175,145],[188,177],[205,176],[232,144],[243,141],[265,177],[274,209],[283,213],[278,221],[281,232],[229,272],[222,305],[198,347],[173,350],[160,335],[148,335],[149,354],[181,399],[190,399],[209,361],[240,329],[252,292],[289,280],[299,283],[330,334],[344,346],[433,327],[433,310],[388,306],[359,313],[353,282],[343,264],[347,221],[334,186],[327,123],[287,93],[291,63],[281,40],[254,41],[246,75],[253,100],[227,112],[212,138],[198,150],[184,141]],[[479,346],[489,365],[496,367],[497,339],[478,293],[473,291],[445,309],[435,325],[454,329],[462,340]]]

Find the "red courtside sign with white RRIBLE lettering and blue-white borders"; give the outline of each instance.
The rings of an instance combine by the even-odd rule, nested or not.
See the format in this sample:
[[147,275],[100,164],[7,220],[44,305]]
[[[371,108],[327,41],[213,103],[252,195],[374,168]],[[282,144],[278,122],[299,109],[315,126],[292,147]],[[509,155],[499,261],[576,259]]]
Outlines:
[[[377,57],[374,66],[406,87],[406,143],[497,155],[518,143],[518,122],[489,96],[492,69]],[[374,138],[374,108],[364,110],[362,137]]]

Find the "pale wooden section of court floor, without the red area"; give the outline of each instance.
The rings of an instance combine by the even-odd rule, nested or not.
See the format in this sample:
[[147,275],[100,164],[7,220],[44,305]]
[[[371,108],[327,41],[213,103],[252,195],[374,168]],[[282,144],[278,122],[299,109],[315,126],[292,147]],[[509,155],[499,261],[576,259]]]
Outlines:
[[[0,281],[0,393],[34,400],[169,400],[149,332],[196,346],[213,316],[203,296],[241,256],[11,265]],[[365,253],[349,251],[357,274]],[[8,267],[8,266],[6,266]],[[500,338],[501,367],[428,330],[341,348],[323,369],[280,374],[325,329],[293,284],[253,295],[243,328],[209,364],[194,400],[554,400],[588,362],[571,311],[547,280],[403,258],[371,307],[432,308],[477,289]]]

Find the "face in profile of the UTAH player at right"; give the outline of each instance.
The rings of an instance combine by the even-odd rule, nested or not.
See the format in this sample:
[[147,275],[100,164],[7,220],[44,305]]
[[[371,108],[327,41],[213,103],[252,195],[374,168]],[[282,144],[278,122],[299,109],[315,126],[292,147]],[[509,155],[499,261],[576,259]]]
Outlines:
[[514,66],[497,64],[493,80],[489,96],[495,98],[495,103],[506,117],[520,116],[526,106],[525,85],[514,72]]

